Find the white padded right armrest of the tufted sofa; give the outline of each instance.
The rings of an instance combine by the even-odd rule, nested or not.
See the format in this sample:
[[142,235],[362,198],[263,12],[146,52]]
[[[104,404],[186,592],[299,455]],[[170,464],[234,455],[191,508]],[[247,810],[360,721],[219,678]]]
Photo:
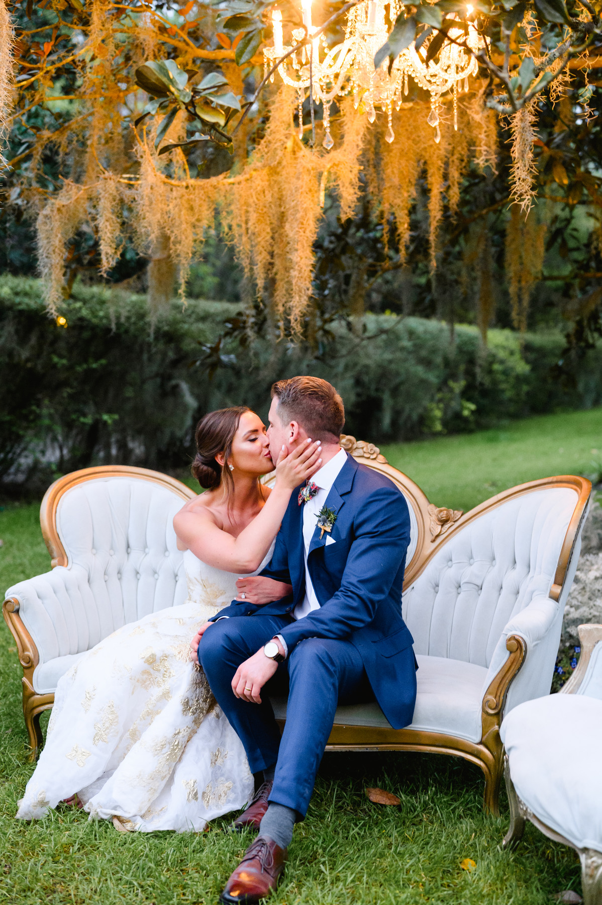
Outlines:
[[504,626],[484,681],[484,694],[508,660],[506,641],[511,635],[522,638],[526,647],[522,668],[513,679],[503,711],[508,713],[523,700],[550,694],[551,679],[560,643],[562,607],[543,595],[533,597],[531,604],[517,613]]

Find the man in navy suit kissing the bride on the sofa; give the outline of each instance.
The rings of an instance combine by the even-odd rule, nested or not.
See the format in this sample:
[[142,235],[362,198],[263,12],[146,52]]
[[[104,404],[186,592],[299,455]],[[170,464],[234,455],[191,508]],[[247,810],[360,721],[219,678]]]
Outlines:
[[[261,606],[234,602],[199,643],[213,694],[251,771],[263,771],[265,779],[236,821],[238,828],[259,829],[259,836],[222,902],[257,902],[276,888],[337,703],[376,698],[394,729],[412,719],[416,660],[401,617],[408,506],[388,478],[341,449],[343,423],[343,400],[325,380],[300,376],[272,386],[272,460],[308,437],[322,443],[323,464],[291,496],[261,573],[292,585],[293,595]],[[282,738],[266,693],[278,681],[289,689]]]

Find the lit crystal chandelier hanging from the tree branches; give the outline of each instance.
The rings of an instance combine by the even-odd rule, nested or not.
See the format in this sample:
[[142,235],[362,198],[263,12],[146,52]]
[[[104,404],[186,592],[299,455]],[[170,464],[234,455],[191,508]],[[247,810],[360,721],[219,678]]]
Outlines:
[[[277,60],[290,53],[287,59],[277,68],[278,75],[287,85],[296,89],[299,110],[299,138],[303,137],[303,100],[306,89],[311,89],[313,100],[320,101],[324,109],[325,138],[323,145],[330,149],[334,145],[330,134],[330,107],[336,97],[353,92],[355,108],[363,102],[368,119],[376,118],[375,106],[387,114],[388,129],[385,140],[393,141],[395,135],[391,125],[392,108],[400,110],[403,96],[408,94],[408,78],[416,81],[420,88],[430,94],[431,110],[428,124],[435,129],[435,141],[441,138],[439,131],[439,107],[441,96],[447,91],[454,95],[454,128],[457,129],[457,94],[461,82],[468,90],[468,77],[478,69],[475,57],[466,53],[463,47],[454,41],[464,42],[474,53],[484,47],[484,41],[476,31],[475,25],[468,24],[467,34],[463,27],[450,28],[446,42],[438,54],[438,61],[425,62],[428,45],[433,40],[431,35],[422,44],[418,52],[412,43],[400,53],[391,67],[389,74],[386,58],[378,69],[374,68],[374,55],[386,43],[389,31],[385,24],[384,0],[362,0],[347,14],[345,37],[342,43],[333,48],[328,47],[325,35],[313,38],[311,43],[296,50],[306,37],[312,37],[316,31],[312,24],[311,0],[302,0],[303,24],[305,28],[292,31],[292,43],[285,44],[282,31],[282,14],[275,9],[272,12],[274,46],[264,48],[264,65],[266,72]],[[473,12],[471,5],[466,6],[466,13]],[[390,18],[394,21],[400,13],[398,0],[390,0]],[[322,57],[320,54],[322,53]],[[271,76],[274,81],[274,76]]]

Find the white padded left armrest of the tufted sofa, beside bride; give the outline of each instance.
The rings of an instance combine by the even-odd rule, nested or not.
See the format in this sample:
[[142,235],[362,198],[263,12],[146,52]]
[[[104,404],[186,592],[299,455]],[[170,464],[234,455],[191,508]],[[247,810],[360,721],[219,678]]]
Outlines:
[[83,568],[57,566],[9,587],[6,597],[10,603],[5,604],[5,619],[11,631],[9,614],[14,615],[15,626],[17,620],[24,625],[39,662],[89,650],[100,640],[100,626],[90,624],[90,609],[96,607]]

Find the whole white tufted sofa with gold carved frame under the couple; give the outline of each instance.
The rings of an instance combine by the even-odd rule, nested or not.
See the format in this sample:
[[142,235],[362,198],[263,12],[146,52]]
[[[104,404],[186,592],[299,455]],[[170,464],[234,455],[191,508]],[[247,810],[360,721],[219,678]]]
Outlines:
[[[371,443],[343,436],[342,444],[408,500],[403,612],[418,698],[411,726],[400,730],[376,703],[340,707],[327,748],[466,757],[483,769],[485,805],[496,812],[500,723],[504,711],[550,691],[591,485],[572,476],[532,481],[463,515],[429,504]],[[9,588],[4,605],[24,666],[33,753],[39,715],[71,663],[120,625],[183,602],[172,519],[191,496],[165,475],[118,466],[74,472],[47,492],[41,521],[52,572]],[[273,703],[286,719],[286,701]]]

